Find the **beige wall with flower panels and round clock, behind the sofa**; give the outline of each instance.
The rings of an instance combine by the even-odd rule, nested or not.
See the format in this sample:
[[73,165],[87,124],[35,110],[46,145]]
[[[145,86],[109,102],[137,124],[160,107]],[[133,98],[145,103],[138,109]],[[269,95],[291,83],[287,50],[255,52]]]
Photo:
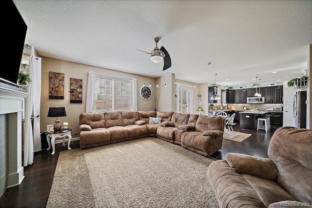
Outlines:
[[[56,118],[49,118],[48,110],[49,107],[60,106],[65,107],[66,117],[59,117],[61,123],[68,122],[68,127],[73,129],[72,137],[78,137],[79,130],[79,115],[86,112],[86,98],[87,98],[87,84],[88,84],[88,72],[94,71],[95,73],[117,76],[122,78],[136,78],[137,79],[137,109],[138,110],[155,110],[154,108],[154,98],[152,97],[148,101],[144,101],[139,96],[139,89],[143,83],[152,83],[156,85],[156,79],[151,77],[145,77],[125,72],[119,72],[115,70],[99,68],[95,66],[84,65],[75,62],[67,62],[58,59],[52,59],[47,57],[42,58],[42,70],[41,70],[41,106],[40,106],[40,131],[46,130],[46,125],[55,124]],[[49,99],[49,72],[60,72],[65,75],[65,85],[64,85],[64,99],[63,100],[53,100]],[[69,80],[70,78],[82,79],[82,104],[71,104],[69,98]],[[161,79],[162,82],[162,78]],[[164,78],[164,82],[167,82],[167,77]],[[168,87],[167,87],[168,88]],[[169,85],[170,89],[170,85]],[[171,96],[171,94],[166,95]],[[159,101],[161,101],[159,99]],[[165,102],[164,102],[165,103]],[[165,103],[168,105],[168,103]],[[171,104],[169,106],[162,105],[161,109],[164,111],[171,110]]]

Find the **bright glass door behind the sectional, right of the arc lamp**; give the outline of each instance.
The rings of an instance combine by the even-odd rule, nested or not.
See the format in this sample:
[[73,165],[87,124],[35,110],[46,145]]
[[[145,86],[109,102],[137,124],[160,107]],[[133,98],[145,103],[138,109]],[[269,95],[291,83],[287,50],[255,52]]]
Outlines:
[[193,88],[176,84],[176,112],[192,113]]

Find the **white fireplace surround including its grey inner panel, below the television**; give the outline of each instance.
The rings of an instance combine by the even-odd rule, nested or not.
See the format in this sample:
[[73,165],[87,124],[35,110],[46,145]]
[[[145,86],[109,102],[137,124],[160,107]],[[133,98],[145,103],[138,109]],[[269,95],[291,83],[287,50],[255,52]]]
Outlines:
[[[1,125],[4,134],[0,134],[0,141],[7,144],[3,152],[1,149],[0,164],[0,196],[6,188],[18,186],[24,179],[22,166],[22,104],[30,94],[0,86],[0,114],[7,120]],[[4,115],[4,116],[3,116]]]

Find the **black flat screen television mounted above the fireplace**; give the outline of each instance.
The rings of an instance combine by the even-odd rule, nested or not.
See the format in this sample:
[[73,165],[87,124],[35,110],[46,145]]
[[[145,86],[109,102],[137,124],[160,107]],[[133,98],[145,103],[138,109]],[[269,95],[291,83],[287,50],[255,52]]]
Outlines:
[[7,17],[2,20],[4,27],[2,27],[2,43],[5,47],[2,47],[6,58],[3,62],[6,62],[5,67],[2,66],[0,70],[1,82],[8,82],[16,84],[18,81],[18,75],[20,71],[20,60],[23,53],[27,25],[20,15],[13,0],[9,0],[5,3],[3,11],[6,11]]

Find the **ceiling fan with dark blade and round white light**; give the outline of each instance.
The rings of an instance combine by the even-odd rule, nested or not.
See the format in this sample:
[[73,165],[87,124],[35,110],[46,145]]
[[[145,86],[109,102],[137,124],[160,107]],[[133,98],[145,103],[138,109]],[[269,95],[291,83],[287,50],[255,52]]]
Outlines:
[[164,48],[164,46],[161,46],[160,49],[157,47],[157,42],[159,41],[159,39],[160,39],[159,37],[154,38],[156,46],[151,53],[146,52],[146,51],[137,50],[137,49],[136,50],[141,51],[143,53],[150,54],[152,62],[158,63],[158,62],[161,62],[162,60],[164,60],[164,68],[162,69],[164,71],[164,70],[171,67],[171,58],[169,56],[168,51]]

